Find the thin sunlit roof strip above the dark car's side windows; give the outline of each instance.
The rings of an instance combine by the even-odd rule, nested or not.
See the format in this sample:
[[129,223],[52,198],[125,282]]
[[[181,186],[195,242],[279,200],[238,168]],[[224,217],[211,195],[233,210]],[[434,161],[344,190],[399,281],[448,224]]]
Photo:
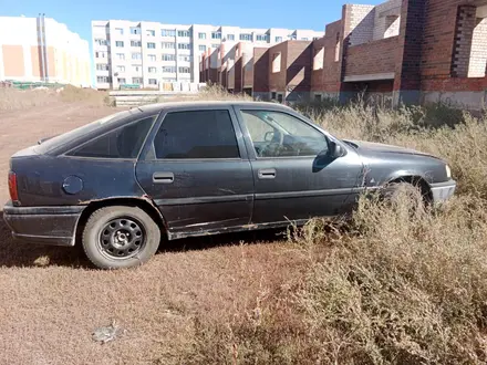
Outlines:
[[139,106],[142,112],[157,112],[169,109],[184,109],[184,108],[197,108],[197,107],[259,107],[259,108],[272,108],[272,109],[286,109],[292,111],[289,106],[270,103],[270,102],[248,102],[248,101],[188,101],[188,102],[167,102],[156,103]]

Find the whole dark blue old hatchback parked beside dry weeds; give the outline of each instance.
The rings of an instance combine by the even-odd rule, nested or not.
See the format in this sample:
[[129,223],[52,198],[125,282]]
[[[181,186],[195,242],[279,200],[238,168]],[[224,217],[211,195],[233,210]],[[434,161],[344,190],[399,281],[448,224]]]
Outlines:
[[335,138],[258,102],[142,106],[44,138],[10,159],[4,220],[28,242],[83,246],[99,268],[146,262],[163,239],[300,225],[350,212],[364,190],[455,191],[447,164]]

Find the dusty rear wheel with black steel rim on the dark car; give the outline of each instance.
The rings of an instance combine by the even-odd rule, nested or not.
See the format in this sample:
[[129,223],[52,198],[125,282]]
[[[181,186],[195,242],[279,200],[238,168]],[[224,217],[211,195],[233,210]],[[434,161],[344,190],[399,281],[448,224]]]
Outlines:
[[124,269],[147,262],[160,243],[160,229],[143,209],[113,206],[89,218],[82,244],[99,269]]

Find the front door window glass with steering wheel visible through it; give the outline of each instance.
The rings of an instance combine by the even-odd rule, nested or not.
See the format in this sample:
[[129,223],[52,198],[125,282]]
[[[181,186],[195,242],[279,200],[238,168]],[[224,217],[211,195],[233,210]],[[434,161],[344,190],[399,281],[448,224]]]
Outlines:
[[328,139],[303,121],[272,111],[241,111],[257,157],[317,156],[328,152]]

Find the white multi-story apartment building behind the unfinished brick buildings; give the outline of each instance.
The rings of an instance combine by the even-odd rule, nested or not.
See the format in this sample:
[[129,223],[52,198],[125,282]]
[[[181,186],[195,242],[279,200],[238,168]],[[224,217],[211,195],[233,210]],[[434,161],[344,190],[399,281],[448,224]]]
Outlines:
[[273,44],[313,40],[323,32],[288,29],[182,25],[125,20],[92,21],[96,87],[162,82],[199,83],[199,62],[222,42]]

